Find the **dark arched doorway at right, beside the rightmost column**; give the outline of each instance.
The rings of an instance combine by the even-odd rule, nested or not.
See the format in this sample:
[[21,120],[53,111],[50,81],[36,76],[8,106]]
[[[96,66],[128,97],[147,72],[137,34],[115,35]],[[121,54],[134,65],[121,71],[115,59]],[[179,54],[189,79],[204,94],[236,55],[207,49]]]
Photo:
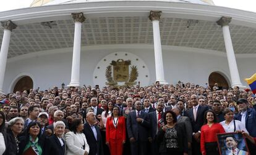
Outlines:
[[220,73],[217,73],[217,72],[213,72],[210,74],[208,82],[209,82],[209,86],[211,87],[211,89],[213,88],[213,85],[215,83],[218,84],[219,89],[228,89],[229,88],[228,81],[226,80],[226,78],[224,78],[223,75],[221,75]]

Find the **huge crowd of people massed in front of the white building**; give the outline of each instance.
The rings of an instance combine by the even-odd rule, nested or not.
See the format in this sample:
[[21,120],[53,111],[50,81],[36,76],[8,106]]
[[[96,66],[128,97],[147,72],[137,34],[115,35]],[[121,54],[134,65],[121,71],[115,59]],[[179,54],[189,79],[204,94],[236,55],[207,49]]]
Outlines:
[[211,155],[216,134],[229,132],[242,133],[253,154],[255,99],[249,89],[182,82],[2,94],[0,154]]

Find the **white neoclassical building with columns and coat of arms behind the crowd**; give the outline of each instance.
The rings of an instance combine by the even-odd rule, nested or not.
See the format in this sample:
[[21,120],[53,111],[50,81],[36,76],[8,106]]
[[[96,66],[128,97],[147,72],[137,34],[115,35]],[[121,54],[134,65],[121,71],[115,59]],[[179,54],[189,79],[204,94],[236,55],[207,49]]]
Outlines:
[[243,87],[255,73],[256,13],[210,0],[35,0],[0,12],[0,22],[1,93],[111,82]]

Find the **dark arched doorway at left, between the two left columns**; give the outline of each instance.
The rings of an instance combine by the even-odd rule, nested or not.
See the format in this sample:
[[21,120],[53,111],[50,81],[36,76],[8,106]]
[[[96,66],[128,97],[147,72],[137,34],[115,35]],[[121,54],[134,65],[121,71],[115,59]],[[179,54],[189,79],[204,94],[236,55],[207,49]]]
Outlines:
[[14,86],[14,92],[33,89],[33,80],[29,76],[20,78]]

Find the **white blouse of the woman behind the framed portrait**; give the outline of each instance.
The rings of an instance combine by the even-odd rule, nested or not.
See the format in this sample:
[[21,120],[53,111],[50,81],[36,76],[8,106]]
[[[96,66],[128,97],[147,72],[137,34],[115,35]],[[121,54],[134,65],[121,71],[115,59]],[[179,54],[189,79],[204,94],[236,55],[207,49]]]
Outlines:
[[228,133],[228,132],[235,132],[234,131],[234,121],[236,123],[236,131],[237,130],[243,130],[244,132],[249,133],[246,130],[244,124],[242,124],[241,121],[237,121],[237,120],[234,120],[234,119],[229,124],[226,124],[225,121],[220,122],[220,124],[223,126],[223,128],[224,128],[226,133]]

